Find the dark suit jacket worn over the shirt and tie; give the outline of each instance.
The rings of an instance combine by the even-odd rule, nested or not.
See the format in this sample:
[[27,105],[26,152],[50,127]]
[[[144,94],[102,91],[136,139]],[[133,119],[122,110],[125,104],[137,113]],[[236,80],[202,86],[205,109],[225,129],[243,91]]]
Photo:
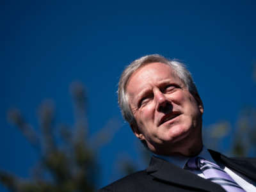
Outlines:
[[[248,179],[256,181],[256,159],[228,158],[218,152],[209,150],[212,159],[234,170]],[[188,170],[183,170],[172,163],[152,157],[147,170],[133,173],[105,188],[99,190],[130,192],[130,191],[222,191],[220,185],[199,177]]]

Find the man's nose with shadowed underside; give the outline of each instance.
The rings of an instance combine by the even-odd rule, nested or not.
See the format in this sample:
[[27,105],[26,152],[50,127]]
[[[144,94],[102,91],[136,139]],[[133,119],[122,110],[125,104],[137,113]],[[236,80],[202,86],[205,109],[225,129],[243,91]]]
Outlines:
[[170,111],[172,111],[172,104],[166,98],[166,95],[164,95],[164,93],[162,93],[158,90],[155,93],[155,99],[156,99],[157,111],[162,112],[162,113],[170,113]]

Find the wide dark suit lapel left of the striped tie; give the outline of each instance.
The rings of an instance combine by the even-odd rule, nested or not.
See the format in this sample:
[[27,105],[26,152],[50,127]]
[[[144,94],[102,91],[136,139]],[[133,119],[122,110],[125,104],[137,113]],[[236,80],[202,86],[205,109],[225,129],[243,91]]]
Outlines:
[[195,190],[224,191],[218,184],[198,177],[187,170],[183,170],[182,168],[157,157],[152,157],[150,165],[147,168],[147,172],[156,179],[180,185],[182,188],[186,187]]

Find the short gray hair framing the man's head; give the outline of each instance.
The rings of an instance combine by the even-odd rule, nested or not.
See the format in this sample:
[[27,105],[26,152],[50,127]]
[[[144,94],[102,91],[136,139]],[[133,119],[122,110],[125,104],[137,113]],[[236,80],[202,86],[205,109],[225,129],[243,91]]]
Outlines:
[[174,74],[177,75],[181,81],[183,81],[185,86],[188,88],[189,92],[192,95],[198,94],[198,91],[196,89],[195,83],[192,79],[190,72],[185,67],[185,65],[180,63],[179,61],[168,60],[159,54],[143,56],[138,60],[133,61],[130,65],[128,65],[125,68],[124,72],[122,73],[122,76],[120,77],[120,81],[118,83],[117,92],[118,104],[120,106],[124,119],[127,120],[127,122],[129,122],[130,125],[134,125],[136,127],[138,126],[134,118],[134,115],[132,114],[131,108],[129,106],[129,100],[126,93],[126,86],[132,74],[136,70],[138,70],[138,68],[141,68],[149,63],[164,63],[166,65],[169,65],[170,67],[172,67]]

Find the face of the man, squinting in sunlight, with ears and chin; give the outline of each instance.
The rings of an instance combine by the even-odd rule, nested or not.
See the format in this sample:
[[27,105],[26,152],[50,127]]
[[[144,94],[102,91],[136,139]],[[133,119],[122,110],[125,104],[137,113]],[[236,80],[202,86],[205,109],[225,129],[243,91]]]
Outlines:
[[184,156],[199,152],[202,102],[198,95],[191,95],[170,66],[150,63],[139,68],[130,77],[126,92],[138,124],[132,130],[152,152]]

